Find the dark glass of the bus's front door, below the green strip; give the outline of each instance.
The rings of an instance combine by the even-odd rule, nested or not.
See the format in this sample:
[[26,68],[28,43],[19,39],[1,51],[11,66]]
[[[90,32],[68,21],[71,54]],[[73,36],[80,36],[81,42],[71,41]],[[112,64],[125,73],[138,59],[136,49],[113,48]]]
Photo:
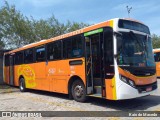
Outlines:
[[86,67],[88,86],[101,86],[101,44],[100,34],[86,37]]

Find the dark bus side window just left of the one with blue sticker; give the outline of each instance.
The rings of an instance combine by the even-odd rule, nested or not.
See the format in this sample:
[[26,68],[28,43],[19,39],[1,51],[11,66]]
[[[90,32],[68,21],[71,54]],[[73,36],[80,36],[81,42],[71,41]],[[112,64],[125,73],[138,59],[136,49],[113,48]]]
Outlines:
[[28,49],[24,51],[24,63],[33,62],[33,49]]

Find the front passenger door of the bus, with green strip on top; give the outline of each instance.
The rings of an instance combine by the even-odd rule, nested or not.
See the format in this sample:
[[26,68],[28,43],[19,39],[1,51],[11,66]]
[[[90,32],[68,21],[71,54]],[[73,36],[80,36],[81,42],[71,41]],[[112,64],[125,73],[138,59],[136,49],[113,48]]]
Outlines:
[[102,97],[104,81],[103,29],[84,34],[86,42],[87,94]]

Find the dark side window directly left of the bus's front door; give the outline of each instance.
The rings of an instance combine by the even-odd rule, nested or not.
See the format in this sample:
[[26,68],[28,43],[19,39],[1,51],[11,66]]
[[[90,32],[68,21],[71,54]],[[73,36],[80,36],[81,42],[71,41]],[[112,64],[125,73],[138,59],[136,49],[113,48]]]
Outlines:
[[63,41],[63,57],[76,58],[83,55],[83,41],[81,36],[75,36]]

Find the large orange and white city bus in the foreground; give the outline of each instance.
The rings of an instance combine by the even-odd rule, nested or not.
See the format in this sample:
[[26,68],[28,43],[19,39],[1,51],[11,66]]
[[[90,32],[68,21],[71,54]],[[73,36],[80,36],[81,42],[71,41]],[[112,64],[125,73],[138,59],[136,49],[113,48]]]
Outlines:
[[4,81],[79,102],[150,95],[157,78],[149,28],[115,18],[12,50],[4,54]]

